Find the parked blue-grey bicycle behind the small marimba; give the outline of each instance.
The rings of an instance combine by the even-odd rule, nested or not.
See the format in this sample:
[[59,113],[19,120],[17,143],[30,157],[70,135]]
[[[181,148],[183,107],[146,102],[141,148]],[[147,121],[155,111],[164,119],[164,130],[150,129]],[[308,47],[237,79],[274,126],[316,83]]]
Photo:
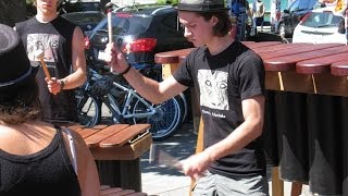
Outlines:
[[82,124],[95,126],[102,118],[105,106],[113,123],[149,123],[153,139],[163,139],[174,133],[187,113],[182,94],[161,105],[152,105],[137,94],[123,78],[99,74],[88,69],[87,83],[76,90],[77,110]]

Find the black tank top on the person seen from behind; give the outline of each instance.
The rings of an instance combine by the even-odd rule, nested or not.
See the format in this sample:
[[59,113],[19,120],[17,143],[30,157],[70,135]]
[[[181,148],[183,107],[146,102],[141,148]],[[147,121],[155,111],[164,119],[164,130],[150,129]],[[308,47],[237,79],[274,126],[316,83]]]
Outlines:
[[0,195],[80,195],[60,128],[57,128],[52,143],[36,154],[17,156],[0,149]]

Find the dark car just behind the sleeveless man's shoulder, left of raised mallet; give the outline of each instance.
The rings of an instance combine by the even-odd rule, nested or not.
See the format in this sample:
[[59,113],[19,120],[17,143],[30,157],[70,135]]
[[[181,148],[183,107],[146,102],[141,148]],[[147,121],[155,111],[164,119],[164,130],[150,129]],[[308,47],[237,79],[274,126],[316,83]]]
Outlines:
[[62,17],[79,26],[87,36],[104,17],[104,14],[99,11],[70,12],[62,14]]

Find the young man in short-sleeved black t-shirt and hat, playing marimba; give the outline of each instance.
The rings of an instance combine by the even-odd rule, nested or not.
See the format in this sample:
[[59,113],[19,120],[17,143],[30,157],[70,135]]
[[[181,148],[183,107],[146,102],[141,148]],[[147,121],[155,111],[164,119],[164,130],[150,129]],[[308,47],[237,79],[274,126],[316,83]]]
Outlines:
[[159,83],[130,68],[115,44],[107,63],[146,99],[160,103],[194,87],[204,124],[204,149],[181,161],[197,184],[194,195],[269,195],[261,134],[264,68],[261,58],[228,35],[224,0],[181,0],[185,37],[195,47],[174,74]]

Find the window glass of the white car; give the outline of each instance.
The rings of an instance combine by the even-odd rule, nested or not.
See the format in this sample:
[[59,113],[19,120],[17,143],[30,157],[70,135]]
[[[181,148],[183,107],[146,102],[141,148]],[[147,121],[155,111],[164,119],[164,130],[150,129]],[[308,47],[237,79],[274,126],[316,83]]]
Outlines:
[[312,12],[302,21],[301,25],[314,28],[331,27],[338,26],[341,20],[341,16],[334,15],[332,12]]

